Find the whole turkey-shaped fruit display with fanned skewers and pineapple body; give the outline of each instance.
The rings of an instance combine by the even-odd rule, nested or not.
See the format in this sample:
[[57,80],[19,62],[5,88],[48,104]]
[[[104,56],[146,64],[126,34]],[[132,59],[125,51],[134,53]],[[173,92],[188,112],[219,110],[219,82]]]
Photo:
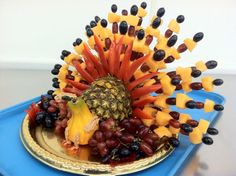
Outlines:
[[[222,105],[209,99],[197,102],[186,95],[192,90],[210,92],[223,83],[210,76],[192,82],[217,62],[199,61],[164,71],[183,52],[191,52],[204,35],[198,32],[175,46],[184,16],[171,20],[163,35],[159,27],[165,9],[158,9],[144,28],[146,6],[133,5],[130,12],[122,10],[119,15],[113,4],[108,20],[96,16],[86,26],[88,41],[78,38],[75,52],[62,51],[65,63],[51,71],[56,75],[55,90],[27,110],[31,124],[54,129],[68,153],[79,155],[80,146],[87,145],[102,163],[120,164],[152,156],[163,143],[178,147],[179,134],[189,136],[193,144],[213,143],[209,135],[218,130],[207,120],[196,121],[171,106],[222,111]],[[174,97],[176,90],[183,91]]]

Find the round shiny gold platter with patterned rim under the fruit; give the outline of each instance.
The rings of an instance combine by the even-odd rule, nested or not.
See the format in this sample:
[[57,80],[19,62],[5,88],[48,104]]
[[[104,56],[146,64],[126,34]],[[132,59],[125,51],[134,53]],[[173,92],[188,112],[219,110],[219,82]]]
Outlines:
[[144,159],[112,167],[101,164],[89,154],[88,147],[80,147],[80,155],[72,157],[61,147],[60,138],[42,127],[31,129],[28,116],[21,127],[21,141],[28,152],[39,161],[58,170],[82,175],[123,175],[149,168],[169,156],[174,148],[165,144],[157,152]]

